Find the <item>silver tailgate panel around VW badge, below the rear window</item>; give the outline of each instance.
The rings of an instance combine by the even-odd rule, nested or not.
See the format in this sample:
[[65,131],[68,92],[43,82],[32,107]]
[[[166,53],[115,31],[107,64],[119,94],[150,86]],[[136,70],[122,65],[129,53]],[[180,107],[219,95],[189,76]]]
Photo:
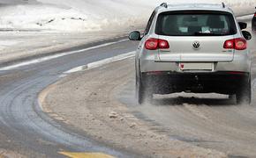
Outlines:
[[[227,39],[233,36],[213,37],[175,37],[159,36],[159,39],[169,41],[169,49],[160,49],[159,61],[184,61],[184,62],[230,62],[234,59],[233,49],[224,49]],[[193,44],[200,45],[195,48]]]

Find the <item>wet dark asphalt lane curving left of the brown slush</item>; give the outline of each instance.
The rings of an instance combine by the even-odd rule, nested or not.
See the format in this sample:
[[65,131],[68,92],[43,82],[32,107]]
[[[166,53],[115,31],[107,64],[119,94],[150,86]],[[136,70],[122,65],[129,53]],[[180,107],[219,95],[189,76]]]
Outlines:
[[125,152],[104,147],[72,127],[49,118],[41,111],[37,96],[49,84],[59,80],[63,72],[131,52],[135,45],[124,41],[51,61],[0,71],[0,148],[18,151],[28,157],[61,157],[58,152],[63,150],[101,152],[125,157]]

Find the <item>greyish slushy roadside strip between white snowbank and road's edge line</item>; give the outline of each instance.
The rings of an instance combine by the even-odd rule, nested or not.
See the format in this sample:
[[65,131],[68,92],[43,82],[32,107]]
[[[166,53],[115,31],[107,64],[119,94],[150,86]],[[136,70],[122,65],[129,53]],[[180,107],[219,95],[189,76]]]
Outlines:
[[121,36],[124,32],[0,32],[0,67]]

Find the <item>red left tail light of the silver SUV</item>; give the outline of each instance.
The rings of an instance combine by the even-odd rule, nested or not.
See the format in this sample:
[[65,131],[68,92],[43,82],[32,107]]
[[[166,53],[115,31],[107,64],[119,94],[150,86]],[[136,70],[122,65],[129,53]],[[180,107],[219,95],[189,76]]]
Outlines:
[[148,50],[156,50],[156,49],[168,49],[169,43],[167,40],[164,39],[147,39],[145,43],[145,47]]

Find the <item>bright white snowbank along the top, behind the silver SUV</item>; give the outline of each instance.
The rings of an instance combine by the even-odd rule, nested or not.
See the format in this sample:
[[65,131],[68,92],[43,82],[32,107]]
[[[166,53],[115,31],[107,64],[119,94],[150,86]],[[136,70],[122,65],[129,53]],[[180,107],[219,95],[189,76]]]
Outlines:
[[[177,1],[166,2],[174,4]],[[196,2],[219,4],[222,1]],[[237,15],[252,13],[256,4],[256,0],[225,2]],[[0,7],[0,29],[90,32],[132,28],[145,25],[151,11],[161,4],[162,0],[26,0],[26,3]]]

